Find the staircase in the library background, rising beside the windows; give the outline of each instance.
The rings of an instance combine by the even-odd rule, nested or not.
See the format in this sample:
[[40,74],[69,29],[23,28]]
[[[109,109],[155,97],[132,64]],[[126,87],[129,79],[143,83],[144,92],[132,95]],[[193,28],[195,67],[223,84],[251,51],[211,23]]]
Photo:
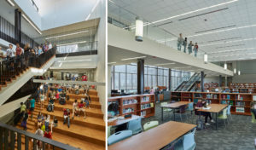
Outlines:
[[180,84],[175,91],[190,91],[195,86],[195,83],[201,81],[201,73],[195,72],[189,81]]

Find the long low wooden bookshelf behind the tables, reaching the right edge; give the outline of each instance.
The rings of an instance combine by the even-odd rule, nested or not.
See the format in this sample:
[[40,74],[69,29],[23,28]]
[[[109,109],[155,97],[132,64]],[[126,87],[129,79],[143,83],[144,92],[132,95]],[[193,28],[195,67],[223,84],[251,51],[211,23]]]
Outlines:
[[239,115],[251,115],[250,103],[256,101],[256,94],[217,93],[217,92],[181,92],[171,93],[172,101],[195,101],[205,99],[212,104],[229,104],[230,112]]

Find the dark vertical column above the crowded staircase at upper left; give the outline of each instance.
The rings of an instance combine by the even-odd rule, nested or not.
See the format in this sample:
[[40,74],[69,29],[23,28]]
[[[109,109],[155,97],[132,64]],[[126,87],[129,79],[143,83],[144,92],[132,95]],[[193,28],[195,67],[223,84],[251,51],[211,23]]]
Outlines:
[[19,9],[15,9],[15,40],[21,42],[21,13]]

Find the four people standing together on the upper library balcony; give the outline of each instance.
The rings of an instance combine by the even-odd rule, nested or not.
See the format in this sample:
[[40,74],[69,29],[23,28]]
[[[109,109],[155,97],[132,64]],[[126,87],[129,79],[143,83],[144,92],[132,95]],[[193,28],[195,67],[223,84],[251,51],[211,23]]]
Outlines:
[[183,52],[187,53],[186,49],[188,47],[189,49],[189,55],[192,53],[192,47],[194,46],[194,53],[195,53],[195,57],[197,57],[197,53],[198,53],[198,44],[197,43],[192,43],[192,41],[190,41],[190,43],[188,44],[188,38],[183,38],[183,34],[180,33],[179,34],[179,38],[177,38],[177,50],[181,51],[183,46]]

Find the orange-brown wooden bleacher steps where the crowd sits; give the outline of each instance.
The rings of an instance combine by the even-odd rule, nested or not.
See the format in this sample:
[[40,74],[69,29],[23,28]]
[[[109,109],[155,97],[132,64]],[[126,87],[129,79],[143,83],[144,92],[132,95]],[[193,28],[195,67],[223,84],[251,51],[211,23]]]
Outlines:
[[[80,98],[84,97],[84,95],[67,95],[70,96],[70,100],[67,101],[66,105],[60,105],[55,101],[54,112],[46,111],[48,101],[44,101],[44,108],[42,109],[40,109],[39,104],[36,104],[33,118],[28,119],[27,131],[35,133],[37,130],[35,120],[37,120],[39,112],[50,114],[51,119],[53,119],[53,116],[55,115],[58,119],[58,126],[53,127],[53,140],[60,141],[73,147],[79,147],[83,150],[105,149],[105,122],[101,110],[102,106],[99,102],[96,90],[90,89],[89,95],[91,97],[91,104],[90,109],[85,109],[86,118],[84,118],[84,114],[82,113],[80,114],[80,117],[75,116],[74,119],[71,119],[70,128],[67,127],[67,124],[63,124],[62,110],[63,108],[69,108],[72,113],[73,101],[75,99],[80,101]],[[20,124],[17,125],[17,128],[21,129]],[[22,141],[24,144],[24,137],[22,138]],[[30,146],[32,146],[32,142],[30,142]],[[24,145],[22,147],[24,147]]]

